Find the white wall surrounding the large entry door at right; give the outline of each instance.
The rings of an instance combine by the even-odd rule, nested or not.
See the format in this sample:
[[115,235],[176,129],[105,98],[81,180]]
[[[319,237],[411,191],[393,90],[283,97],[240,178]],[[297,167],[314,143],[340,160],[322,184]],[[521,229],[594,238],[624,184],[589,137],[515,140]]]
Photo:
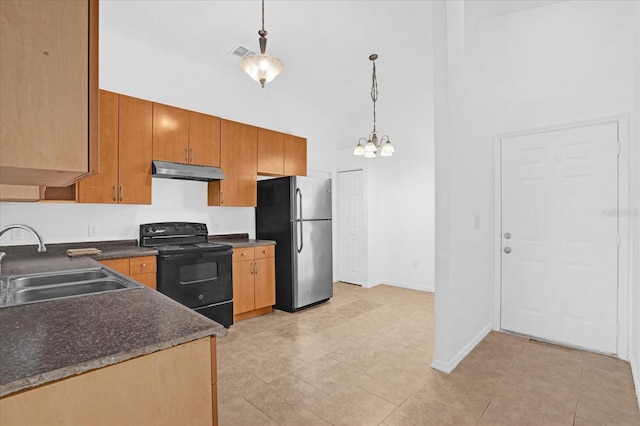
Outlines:
[[[632,113],[638,96],[634,3],[560,2],[479,22],[465,22],[464,2],[434,3],[440,55],[435,78],[436,368],[455,367],[488,331],[491,310],[498,308],[487,300],[494,277],[486,268],[492,264],[490,239],[499,232],[486,227],[493,215],[493,136]],[[637,74],[636,68],[636,80]],[[637,120],[636,113],[629,138],[633,194],[640,185]],[[480,214],[476,231],[470,226],[474,214]],[[629,239],[635,241],[637,258],[635,220]],[[633,262],[637,271],[638,260]],[[636,275],[636,292],[637,281]],[[638,342],[637,295],[631,305],[629,338]],[[632,344],[637,359],[638,344]],[[635,361],[636,371],[637,366]]]

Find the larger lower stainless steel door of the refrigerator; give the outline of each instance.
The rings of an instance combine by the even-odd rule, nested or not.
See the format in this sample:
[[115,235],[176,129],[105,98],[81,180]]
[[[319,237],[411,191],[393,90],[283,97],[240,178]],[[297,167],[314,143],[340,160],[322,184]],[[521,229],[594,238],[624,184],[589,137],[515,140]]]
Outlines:
[[293,309],[333,296],[331,221],[311,220],[292,223]]

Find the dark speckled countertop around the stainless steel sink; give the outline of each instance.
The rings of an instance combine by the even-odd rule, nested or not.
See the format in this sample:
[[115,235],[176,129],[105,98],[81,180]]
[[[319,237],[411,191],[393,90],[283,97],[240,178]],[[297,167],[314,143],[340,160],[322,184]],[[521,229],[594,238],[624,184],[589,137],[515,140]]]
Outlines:
[[[2,275],[95,267],[89,257],[8,255]],[[0,308],[0,396],[207,336],[220,324],[146,287]]]

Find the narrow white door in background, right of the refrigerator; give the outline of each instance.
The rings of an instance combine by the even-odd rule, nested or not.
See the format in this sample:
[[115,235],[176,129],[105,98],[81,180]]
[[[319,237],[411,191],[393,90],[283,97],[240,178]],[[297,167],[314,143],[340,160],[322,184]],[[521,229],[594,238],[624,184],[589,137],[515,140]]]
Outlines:
[[363,284],[362,170],[338,172],[338,280]]

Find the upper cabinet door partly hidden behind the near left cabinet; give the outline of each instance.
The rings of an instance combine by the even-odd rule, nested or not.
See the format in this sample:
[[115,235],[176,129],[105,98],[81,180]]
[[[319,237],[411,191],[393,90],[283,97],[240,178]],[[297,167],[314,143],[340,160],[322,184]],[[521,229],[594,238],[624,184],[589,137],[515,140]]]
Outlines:
[[99,92],[100,169],[98,174],[78,182],[78,202],[117,202],[118,189],[118,99],[117,93]]

